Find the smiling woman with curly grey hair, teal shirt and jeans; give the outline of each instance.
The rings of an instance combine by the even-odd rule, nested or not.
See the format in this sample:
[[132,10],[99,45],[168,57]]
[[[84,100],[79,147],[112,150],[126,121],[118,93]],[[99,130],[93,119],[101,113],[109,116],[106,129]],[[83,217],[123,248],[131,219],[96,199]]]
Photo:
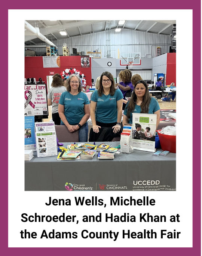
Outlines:
[[76,74],[70,75],[66,87],[67,91],[62,93],[58,107],[61,125],[67,126],[70,132],[79,130],[79,142],[87,142],[90,103],[82,92],[80,77]]

